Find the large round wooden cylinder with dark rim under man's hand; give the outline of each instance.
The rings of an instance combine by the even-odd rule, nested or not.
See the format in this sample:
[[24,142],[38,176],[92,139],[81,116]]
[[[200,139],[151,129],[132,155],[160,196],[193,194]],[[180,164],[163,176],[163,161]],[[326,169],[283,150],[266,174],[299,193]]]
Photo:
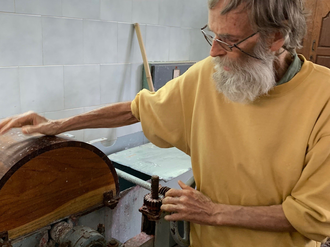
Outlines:
[[65,136],[0,136],[0,232],[14,239],[103,205],[119,194],[110,159]]

